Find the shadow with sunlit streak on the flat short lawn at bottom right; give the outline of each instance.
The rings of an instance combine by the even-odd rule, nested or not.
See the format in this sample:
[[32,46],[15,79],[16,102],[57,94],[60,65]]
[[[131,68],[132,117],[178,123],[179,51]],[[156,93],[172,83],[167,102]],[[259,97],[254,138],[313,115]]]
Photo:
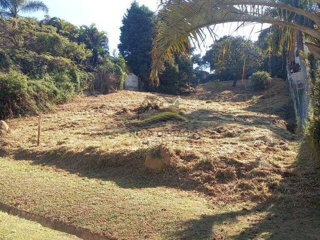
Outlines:
[[316,240],[320,237],[320,214],[309,207],[261,203],[251,209],[202,215],[182,222],[174,237],[181,240]]

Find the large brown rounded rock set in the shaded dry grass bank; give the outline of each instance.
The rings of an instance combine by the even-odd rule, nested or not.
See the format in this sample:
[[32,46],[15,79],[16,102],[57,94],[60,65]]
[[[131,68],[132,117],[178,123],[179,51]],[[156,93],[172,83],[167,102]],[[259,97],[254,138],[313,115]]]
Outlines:
[[147,154],[144,166],[150,170],[160,170],[171,162],[171,158],[168,149],[160,145]]

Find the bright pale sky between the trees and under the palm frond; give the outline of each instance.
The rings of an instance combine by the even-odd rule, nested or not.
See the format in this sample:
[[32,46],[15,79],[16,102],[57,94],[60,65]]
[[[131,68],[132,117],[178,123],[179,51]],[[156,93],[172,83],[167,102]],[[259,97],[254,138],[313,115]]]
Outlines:
[[[56,16],[71,22],[74,25],[89,25],[95,23],[99,30],[106,31],[109,37],[110,53],[117,50],[120,36],[122,17],[133,0],[42,0],[49,8],[48,15]],[[148,6],[151,10],[157,10],[157,0],[137,0],[139,4]],[[33,16],[38,19],[44,17],[43,12],[28,13],[25,16]],[[266,28],[264,24],[262,27]],[[237,23],[224,23],[215,27],[215,33],[223,35],[243,35],[251,40],[258,37],[257,31],[261,30],[261,24],[251,24],[235,31]],[[253,27],[253,30],[252,30]],[[250,32],[252,31],[252,34]],[[196,53],[204,54],[209,45],[213,43],[211,36],[207,36],[205,45],[197,48]]]

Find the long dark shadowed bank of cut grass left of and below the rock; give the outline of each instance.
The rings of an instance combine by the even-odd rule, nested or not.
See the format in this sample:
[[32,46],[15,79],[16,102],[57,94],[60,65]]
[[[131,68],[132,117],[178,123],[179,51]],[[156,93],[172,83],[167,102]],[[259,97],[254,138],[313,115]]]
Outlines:
[[35,165],[54,166],[72,174],[88,178],[114,181],[123,188],[145,188],[156,186],[194,190],[196,184],[180,177],[176,169],[166,168],[150,172],[144,167],[148,148],[135,151],[100,152],[94,147],[82,151],[71,151],[65,147],[48,151],[20,149],[15,160],[31,160]]

